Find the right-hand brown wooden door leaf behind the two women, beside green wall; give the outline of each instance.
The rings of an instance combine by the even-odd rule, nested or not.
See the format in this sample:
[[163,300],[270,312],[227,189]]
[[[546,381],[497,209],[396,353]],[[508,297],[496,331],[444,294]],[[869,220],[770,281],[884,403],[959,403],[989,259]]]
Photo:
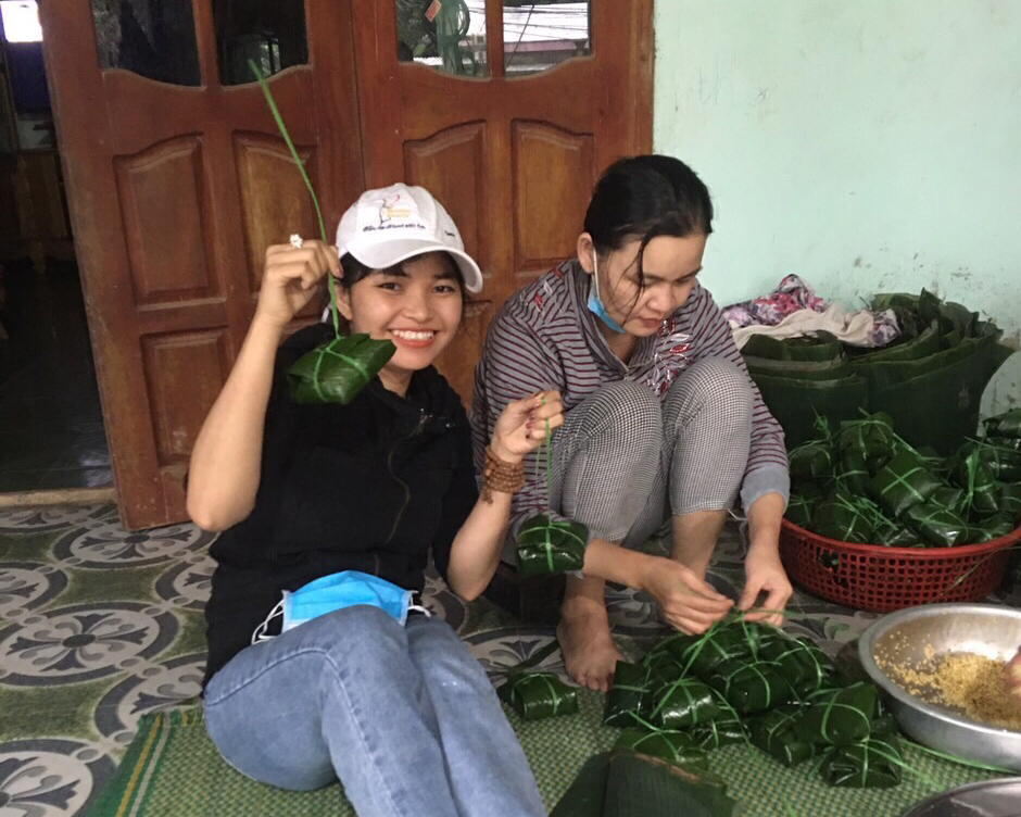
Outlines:
[[[652,147],[653,2],[352,4],[366,185],[431,190],[486,276],[442,366],[468,400],[494,307],[573,254],[602,169]],[[471,17],[461,38],[454,14]],[[399,47],[399,29],[416,26],[431,26],[442,58],[414,62],[420,43]],[[562,60],[560,45],[588,53]]]

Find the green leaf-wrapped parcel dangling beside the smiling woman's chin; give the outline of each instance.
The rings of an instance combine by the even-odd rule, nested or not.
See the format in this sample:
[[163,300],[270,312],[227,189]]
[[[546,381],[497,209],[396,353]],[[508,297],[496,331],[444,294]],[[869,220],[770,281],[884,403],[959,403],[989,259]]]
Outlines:
[[287,370],[295,403],[350,403],[379,373],[396,347],[368,335],[335,338],[299,357]]

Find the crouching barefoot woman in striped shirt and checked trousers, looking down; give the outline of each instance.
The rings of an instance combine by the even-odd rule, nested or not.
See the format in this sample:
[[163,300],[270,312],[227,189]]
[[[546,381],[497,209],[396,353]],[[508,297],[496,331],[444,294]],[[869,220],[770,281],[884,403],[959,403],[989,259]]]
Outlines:
[[[565,422],[553,437],[549,489],[526,467],[508,544],[541,511],[587,526],[584,566],[567,577],[557,638],[568,673],[592,689],[608,689],[620,657],[607,580],[650,593],[683,632],[704,631],[733,606],[705,574],[739,495],[749,530],[739,609],[780,624],[791,596],[778,550],[790,486],[783,430],[698,284],[711,222],[708,190],[683,162],[618,161],[593,191],[577,257],[507,300],[476,370],[479,463],[508,402],[560,392]],[[630,546],[668,520],[669,557]]]

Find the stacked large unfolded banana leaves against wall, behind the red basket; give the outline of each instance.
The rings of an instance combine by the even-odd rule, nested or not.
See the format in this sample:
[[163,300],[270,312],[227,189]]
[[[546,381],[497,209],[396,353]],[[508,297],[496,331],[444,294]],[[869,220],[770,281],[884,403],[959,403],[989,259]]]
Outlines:
[[871,309],[893,310],[902,330],[881,349],[845,345],[828,332],[753,336],[742,353],[766,405],[789,445],[810,438],[816,416],[836,426],[884,412],[911,445],[949,455],[975,435],[982,392],[1011,354],[1003,331],[925,290],[877,296]]

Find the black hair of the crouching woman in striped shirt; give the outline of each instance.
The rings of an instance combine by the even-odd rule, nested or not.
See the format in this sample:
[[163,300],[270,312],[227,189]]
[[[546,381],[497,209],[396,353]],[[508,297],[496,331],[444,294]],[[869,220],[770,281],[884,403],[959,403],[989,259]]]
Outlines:
[[584,230],[600,254],[635,238],[639,282],[648,242],[657,236],[688,238],[713,232],[709,190],[680,159],[659,154],[619,159],[595,184]]

